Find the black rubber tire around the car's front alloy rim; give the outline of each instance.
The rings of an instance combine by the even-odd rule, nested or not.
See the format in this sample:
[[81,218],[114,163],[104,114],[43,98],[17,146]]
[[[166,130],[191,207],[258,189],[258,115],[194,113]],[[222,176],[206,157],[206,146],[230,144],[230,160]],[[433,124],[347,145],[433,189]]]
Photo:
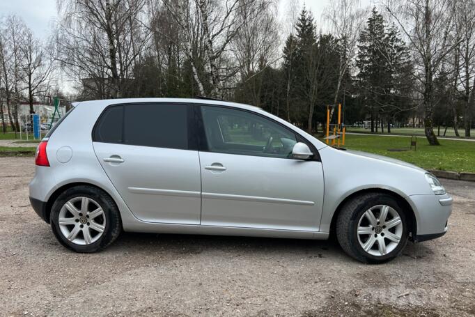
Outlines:
[[[397,247],[384,256],[375,256],[366,252],[359,244],[357,227],[359,219],[369,208],[386,205],[398,213],[403,224],[403,233]],[[336,237],[341,248],[352,258],[363,263],[384,263],[396,258],[404,249],[409,237],[407,217],[404,208],[389,194],[367,193],[355,196],[346,202],[336,220]]]

